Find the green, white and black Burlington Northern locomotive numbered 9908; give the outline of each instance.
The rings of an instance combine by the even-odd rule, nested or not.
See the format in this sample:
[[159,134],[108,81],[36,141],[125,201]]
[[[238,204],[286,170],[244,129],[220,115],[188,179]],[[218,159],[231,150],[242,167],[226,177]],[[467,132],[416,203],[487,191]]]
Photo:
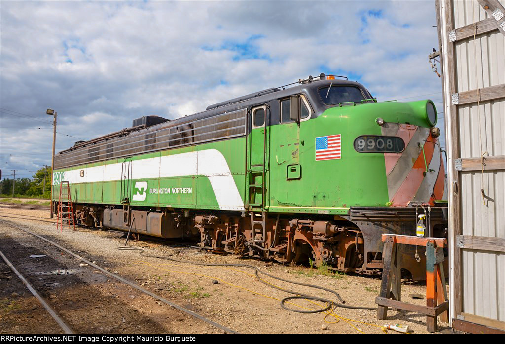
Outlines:
[[[53,200],[68,181],[78,223],[372,274],[381,234],[415,235],[418,214],[445,235],[436,122],[431,100],[377,102],[347,78],[310,77],[77,142],[55,157]],[[421,253],[399,253],[415,280]]]

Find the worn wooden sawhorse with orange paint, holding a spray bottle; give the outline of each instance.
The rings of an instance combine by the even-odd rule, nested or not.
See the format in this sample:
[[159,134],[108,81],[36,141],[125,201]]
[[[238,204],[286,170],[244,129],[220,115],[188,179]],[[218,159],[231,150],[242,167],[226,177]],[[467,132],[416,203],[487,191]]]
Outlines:
[[[426,315],[426,329],[428,332],[437,332],[437,317],[447,322],[449,301],[445,290],[445,276],[443,271],[443,248],[447,245],[444,238],[423,238],[396,234],[383,234],[384,267],[382,269],[382,282],[380,294],[375,299],[379,305],[377,319],[387,318],[387,307],[402,309]],[[401,273],[396,254],[396,245],[417,245],[426,247],[426,306],[419,306],[401,302]],[[414,257],[413,257],[414,259]],[[393,289],[391,291],[391,283]],[[437,303],[440,302],[439,305]]]

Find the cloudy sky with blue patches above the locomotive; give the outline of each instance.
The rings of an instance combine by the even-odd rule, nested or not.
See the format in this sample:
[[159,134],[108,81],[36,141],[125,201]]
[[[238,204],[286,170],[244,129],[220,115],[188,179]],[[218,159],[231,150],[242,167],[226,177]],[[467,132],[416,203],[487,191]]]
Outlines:
[[321,72],[379,101],[430,98],[441,112],[427,60],[434,25],[433,0],[2,0],[2,178],[51,164],[47,108],[58,112],[57,151],[141,116],[173,119]]

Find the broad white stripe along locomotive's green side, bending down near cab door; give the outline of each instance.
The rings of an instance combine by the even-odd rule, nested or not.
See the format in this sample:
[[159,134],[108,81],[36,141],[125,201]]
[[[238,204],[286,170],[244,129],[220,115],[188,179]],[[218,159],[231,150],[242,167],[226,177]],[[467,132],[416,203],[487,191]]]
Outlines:
[[[64,172],[64,180],[70,184],[121,181],[122,168],[128,164],[116,162],[100,166],[72,169]],[[84,170],[84,177],[80,176]],[[217,149],[180,153],[161,157],[133,160],[131,179],[155,179],[172,177],[204,176],[209,179],[221,210],[244,210],[230,167]],[[53,175],[53,185],[55,185]],[[126,176],[126,172],[123,171]]]

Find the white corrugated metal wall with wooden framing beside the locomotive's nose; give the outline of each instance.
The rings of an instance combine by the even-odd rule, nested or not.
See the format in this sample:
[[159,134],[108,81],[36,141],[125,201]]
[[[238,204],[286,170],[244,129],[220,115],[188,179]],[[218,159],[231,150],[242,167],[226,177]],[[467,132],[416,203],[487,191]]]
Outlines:
[[504,6],[505,0],[436,1],[448,153],[450,317],[453,327],[467,332],[505,330]]

